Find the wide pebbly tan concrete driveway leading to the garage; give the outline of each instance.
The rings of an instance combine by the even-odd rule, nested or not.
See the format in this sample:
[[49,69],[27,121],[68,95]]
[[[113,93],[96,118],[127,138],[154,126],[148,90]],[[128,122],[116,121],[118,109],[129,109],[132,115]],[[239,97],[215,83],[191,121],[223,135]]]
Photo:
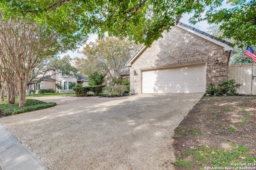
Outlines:
[[202,95],[37,97],[57,106],[0,123],[51,170],[170,170],[173,130]]

